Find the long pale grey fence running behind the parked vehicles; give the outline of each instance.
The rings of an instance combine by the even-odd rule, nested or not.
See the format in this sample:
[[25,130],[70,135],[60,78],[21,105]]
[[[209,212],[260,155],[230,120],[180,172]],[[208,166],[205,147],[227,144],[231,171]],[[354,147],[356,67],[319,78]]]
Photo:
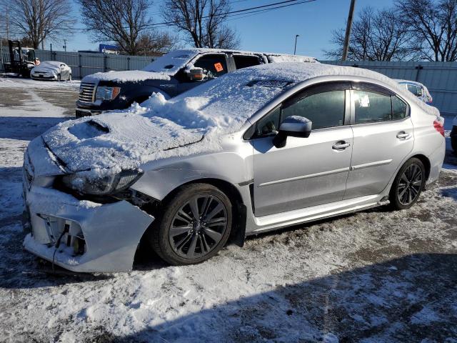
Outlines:
[[[9,61],[7,47],[3,47],[4,61]],[[36,50],[41,61],[62,61],[72,69],[74,79],[98,71],[136,70],[154,61],[151,56],[105,55],[98,53]],[[357,66],[385,74],[393,79],[419,81],[433,96],[433,105],[443,114],[457,114],[457,62],[383,62],[383,61],[321,61],[326,64]],[[0,66],[0,71],[3,66]]]

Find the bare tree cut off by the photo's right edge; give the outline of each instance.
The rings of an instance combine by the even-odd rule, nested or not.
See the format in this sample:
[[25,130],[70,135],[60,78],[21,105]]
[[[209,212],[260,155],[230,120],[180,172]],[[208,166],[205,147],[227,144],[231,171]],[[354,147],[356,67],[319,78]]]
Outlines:
[[423,59],[457,61],[457,0],[402,0],[396,8]]

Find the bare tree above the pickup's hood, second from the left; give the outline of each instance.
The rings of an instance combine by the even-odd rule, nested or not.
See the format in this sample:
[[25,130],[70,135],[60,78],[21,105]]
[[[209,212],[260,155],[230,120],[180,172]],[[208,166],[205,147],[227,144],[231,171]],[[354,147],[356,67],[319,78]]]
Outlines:
[[163,54],[176,39],[151,27],[147,0],[78,0],[81,16],[94,41],[114,41],[129,54]]

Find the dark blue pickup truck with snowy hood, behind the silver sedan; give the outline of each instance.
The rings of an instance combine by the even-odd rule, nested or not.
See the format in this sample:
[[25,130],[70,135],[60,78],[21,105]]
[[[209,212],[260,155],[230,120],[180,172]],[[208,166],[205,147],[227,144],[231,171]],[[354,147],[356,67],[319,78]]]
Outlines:
[[76,101],[76,117],[102,111],[126,109],[152,93],[166,99],[181,94],[202,82],[236,69],[281,62],[317,63],[307,56],[219,49],[185,49],[159,57],[144,70],[109,71],[84,77]]

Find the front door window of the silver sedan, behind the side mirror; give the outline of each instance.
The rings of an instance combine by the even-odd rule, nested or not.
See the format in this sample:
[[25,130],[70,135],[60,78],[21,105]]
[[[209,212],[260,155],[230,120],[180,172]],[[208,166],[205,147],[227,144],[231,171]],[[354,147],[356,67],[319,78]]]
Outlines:
[[313,129],[341,126],[344,123],[345,91],[324,91],[311,94],[282,110],[281,120],[303,116],[313,122]]

